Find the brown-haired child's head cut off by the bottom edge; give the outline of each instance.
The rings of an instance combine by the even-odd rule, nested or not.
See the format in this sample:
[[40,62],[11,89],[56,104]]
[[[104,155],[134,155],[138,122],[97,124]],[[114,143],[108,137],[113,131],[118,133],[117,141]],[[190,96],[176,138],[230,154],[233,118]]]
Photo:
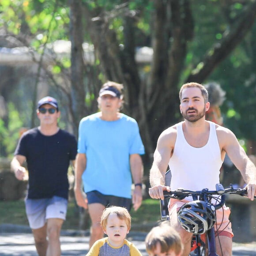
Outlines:
[[183,249],[179,233],[167,223],[152,228],[145,242],[150,256],[180,256]]

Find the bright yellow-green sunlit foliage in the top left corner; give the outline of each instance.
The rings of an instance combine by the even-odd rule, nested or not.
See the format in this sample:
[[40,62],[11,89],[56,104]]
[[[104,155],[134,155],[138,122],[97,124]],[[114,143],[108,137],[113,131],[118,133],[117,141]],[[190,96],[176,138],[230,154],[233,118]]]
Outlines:
[[[31,39],[40,41],[40,44],[47,40],[67,38],[69,11],[63,5],[64,1],[3,0],[1,4],[0,25],[9,32],[36,35]],[[43,36],[38,37],[39,34]]]

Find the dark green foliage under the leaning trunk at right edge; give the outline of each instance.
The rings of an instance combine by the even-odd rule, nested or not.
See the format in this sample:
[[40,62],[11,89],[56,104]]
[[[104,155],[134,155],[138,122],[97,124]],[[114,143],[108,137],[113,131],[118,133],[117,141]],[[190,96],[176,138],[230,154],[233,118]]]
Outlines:
[[256,140],[256,25],[245,41],[209,77],[226,91],[224,125],[239,138]]

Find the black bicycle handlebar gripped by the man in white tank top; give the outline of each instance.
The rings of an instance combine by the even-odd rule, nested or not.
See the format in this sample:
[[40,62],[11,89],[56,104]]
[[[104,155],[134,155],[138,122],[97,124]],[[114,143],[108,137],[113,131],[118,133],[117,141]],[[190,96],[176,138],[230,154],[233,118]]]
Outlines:
[[[226,194],[230,195],[240,195],[247,196],[247,189],[245,188],[233,188],[233,185],[230,184],[229,188],[223,188],[222,184],[216,184],[216,190],[208,190],[208,188],[204,188],[201,191],[193,191],[188,189],[179,188],[173,191],[164,191],[165,198],[175,198],[178,200],[183,200],[188,196],[199,196],[199,200],[206,201],[209,203],[208,197],[217,195],[221,196],[221,200],[218,204],[214,205],[215,209],[221,208],[226,201]],[[256,198],[256,196],[254,196]]]

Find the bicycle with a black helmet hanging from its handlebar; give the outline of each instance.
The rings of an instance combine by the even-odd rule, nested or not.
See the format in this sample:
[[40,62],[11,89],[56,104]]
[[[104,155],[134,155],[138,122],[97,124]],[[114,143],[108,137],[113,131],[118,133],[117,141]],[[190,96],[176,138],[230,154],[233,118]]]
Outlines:
[[[169,198],[178,200],[183,200],[187,196],[192,196],[193,198],[193,201],[185,203],[178,211],[178,220],[181,226],[188,232],[194,234],[191,245],[191,253],[193,252],[194,254],[190,255],[218,256],[216,253],[214,230],[215,210],[220,209],[224,205],[226,194],[247,196],[247,190],[245,188],[233,188],[232,184],[230,184],[229,188],[224,189],[222,184],[216,184],[216,190],[214,191],[209,191],[207,188],[201,191],[188,189],[177,189],[170,192],[164,191],[165,200],[160,200],[162,220],[169,218],[167,206],[167,200]],[[212,204],[212,199],[215,199],[217,204]],[[201,222],[204,223],[200,225]],[[201,239],[202,234],[205,234],[206,242]]]

